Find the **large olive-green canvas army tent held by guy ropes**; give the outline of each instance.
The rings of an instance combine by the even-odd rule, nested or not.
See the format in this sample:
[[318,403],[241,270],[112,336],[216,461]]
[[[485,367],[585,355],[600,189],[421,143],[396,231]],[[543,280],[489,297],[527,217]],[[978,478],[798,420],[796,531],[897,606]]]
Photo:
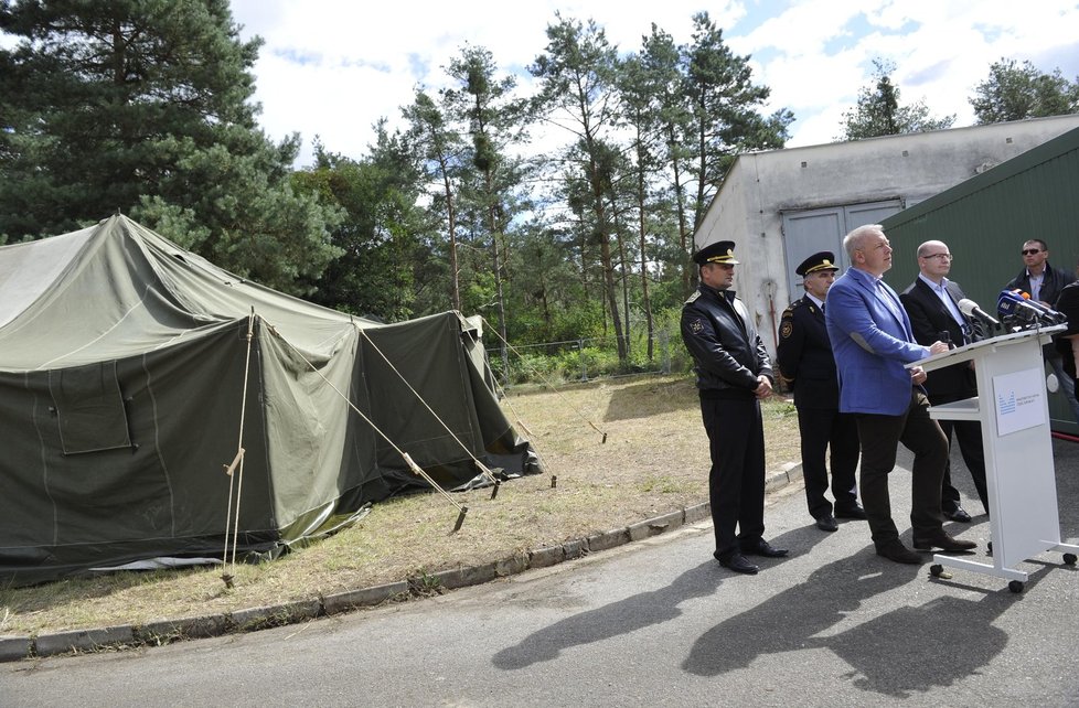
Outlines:
[[241,557],[428,486],[398,450],[444,489],[536,472],[478,347],[459,313],[328,310],[125,216],[0,247],[0,582],[222,557],[241,447]]

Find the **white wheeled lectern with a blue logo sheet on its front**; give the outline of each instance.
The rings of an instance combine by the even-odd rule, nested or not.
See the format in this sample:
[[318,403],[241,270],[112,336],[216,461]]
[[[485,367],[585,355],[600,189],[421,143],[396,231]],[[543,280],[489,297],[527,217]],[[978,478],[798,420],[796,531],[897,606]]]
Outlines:
[[977,397],[932,406],[929,415],[982,423],[993,565],[936,554],[930,568],[934,578],[944,566],[963,568],[1006,578],[1012,592],[1022,592],[1027,573],[1013,566],[1046,550],[1065,551],[1064,562],[1076,564],[1079,546],[1060,543],[1041,360],[1041,345],[1065,329],[1058,324],[1003,334],[908,365],[932,372],[973,362],[977,379]]

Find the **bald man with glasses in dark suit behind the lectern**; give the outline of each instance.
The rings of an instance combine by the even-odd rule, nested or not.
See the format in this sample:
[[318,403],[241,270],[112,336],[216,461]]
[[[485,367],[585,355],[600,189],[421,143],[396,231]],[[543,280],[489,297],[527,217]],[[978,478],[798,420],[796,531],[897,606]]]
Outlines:
[[[957,346],[982,339],[981,324],[964,315],[959,301],[966,296],[958,282],[946,276],[951,271],[952,255],[943,242],[929,240],[918,247],[918,268],[921,271],[899,300],[910,318],[915,341],[929,345],[937,341],[951,342]],[[977,396],[974,369],[965,362],[937,369],[925,383],[929,405],[939,406]],[[966,469],[974,479],[974,489],[982,508],[989,513],[989,495],[985,490],[985,454],[982,450],[982,425],[976,420],[938,420],[948,438],[951,450],[952,431],[959,440],[959,450]],[[969,523],[970,514],[959,503],[959,490],[951,482],[951,463],[944,464],[941,482],[940,511],[953,522]]]

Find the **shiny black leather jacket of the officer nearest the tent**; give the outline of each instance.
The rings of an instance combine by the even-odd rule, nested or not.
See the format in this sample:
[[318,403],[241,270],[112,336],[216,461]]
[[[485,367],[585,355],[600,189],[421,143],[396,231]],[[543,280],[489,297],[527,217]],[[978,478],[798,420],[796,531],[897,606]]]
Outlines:
[[731,290],[702,283],[682,307],[682,340],[696,362],[702,396],[752,394],[757,376],[772,378],[754,318]]

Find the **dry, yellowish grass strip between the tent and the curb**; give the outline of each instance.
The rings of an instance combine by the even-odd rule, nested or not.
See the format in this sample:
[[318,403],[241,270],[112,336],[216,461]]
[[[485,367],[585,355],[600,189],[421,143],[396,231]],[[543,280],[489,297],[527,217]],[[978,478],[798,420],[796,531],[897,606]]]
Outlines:
[[[237,568],[225,588],[220,568],[119,572],[34,588],[0,590],[0,633],[141,624],[266,607],[490,562],[514,551],[562,544],[707,501],[708,447],[692,380],[642,377],[520,390],[503,404],[523,421],[546,474],[455,495],[375,505],[352,528],[259,566]],[[793,408],[765,405],[768,465],[799,457]],[[591,425],[607,433],[601,435]],[[551,475],[557,476],[552,489]]]

